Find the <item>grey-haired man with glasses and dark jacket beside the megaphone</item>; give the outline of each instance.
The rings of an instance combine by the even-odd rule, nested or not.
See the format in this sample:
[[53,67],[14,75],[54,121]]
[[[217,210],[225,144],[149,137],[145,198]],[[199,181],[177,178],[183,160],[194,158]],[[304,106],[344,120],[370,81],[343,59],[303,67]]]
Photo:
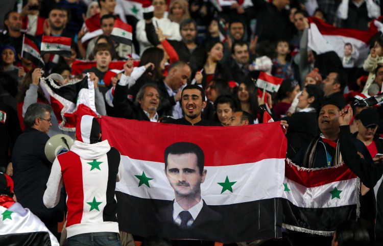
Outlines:
[[17,138],[12,153],[14,191],[18,202],[41,219],[57,235],[57,223],[64,216],[64,196],[54,209],[47,209],[42,197],[51,173],[52,163],[44,153],[51,124],[52,107],[31,104],[24,116],[25,131]]

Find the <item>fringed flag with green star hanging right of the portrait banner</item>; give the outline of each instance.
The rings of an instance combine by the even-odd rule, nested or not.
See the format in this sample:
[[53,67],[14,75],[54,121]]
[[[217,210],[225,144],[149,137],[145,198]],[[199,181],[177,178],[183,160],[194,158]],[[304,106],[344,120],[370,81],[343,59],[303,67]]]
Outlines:
[[359,216],[359,189],[360,180],[344,163],[308,169],[286,160],[283,227],[331,236],[341,222]]

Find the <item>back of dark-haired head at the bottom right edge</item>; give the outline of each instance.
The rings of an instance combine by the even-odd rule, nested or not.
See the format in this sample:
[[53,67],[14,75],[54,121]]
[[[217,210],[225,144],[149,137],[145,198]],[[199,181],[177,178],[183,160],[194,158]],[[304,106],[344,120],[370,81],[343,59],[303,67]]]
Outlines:
[[342,222],[335,231],[335,241],[339,246],[367,246],[370,236],[366,228],[355,220]]

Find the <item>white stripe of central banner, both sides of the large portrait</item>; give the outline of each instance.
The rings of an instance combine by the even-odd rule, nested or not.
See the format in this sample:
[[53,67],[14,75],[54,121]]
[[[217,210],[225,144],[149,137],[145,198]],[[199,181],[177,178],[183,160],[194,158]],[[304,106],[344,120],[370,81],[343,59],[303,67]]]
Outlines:
[[[138,198],[172,201],[174,190],[165,175],[165,164],[160,162],[135,160],[122,156],[124,163],[123,179],[117,183],[116,190]],[[201,184],[201,195],[208,205],[229,205],[281,197],[284,178],[284,159],[265,159],[255,163],[228,166],[205,166],[205,182]],[[150,188],[138,187],[139,180],[134,175],[152,178]],[[278,174],[282,174],[282,177]],[[234,192],[225,190],[218,183],[228,177]],[[145,191],[143,191],[145,189]]]

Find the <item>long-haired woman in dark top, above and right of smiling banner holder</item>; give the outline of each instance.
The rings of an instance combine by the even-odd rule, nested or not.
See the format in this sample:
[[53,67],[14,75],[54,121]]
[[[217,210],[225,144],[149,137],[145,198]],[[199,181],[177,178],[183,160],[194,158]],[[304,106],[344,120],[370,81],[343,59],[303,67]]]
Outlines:
[[202,72],[202,87],[206,88],[212,80],[222,79],[226,82],[232,80],[229,68],[220,63],[224,55],[222,42],[211,41],[206,45],[207,59]]

